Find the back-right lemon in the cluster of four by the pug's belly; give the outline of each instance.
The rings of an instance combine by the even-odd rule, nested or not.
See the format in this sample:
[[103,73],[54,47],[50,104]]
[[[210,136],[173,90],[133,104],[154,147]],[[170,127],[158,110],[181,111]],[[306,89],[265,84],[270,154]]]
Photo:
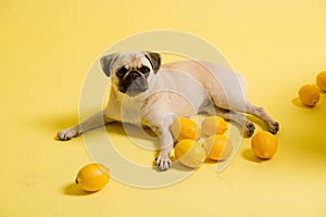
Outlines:
[[220,116],[209,116],[201,123],[202,136],[223,135],[226,129],[226,122]]

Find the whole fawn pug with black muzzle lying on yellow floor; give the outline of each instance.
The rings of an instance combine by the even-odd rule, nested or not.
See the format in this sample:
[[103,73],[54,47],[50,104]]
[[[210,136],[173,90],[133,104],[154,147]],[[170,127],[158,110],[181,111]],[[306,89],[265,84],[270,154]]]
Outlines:
[[112,122],[130,123],[152,129],[159,137],[159,170],[172,167],[170,153],[174,146],[171,125],[176,117],[200,113],[234,120],[247,137],[254,125],[244,113],[261,118],[276,133],[279,125],[263,107],[251,104],[242,77],[209,62],[179,61],[161,65],[155,52],[135,51],[104,55],[101,67],[111,78],[108,105],[88,119],[58,132],[60,140],[70,140]]

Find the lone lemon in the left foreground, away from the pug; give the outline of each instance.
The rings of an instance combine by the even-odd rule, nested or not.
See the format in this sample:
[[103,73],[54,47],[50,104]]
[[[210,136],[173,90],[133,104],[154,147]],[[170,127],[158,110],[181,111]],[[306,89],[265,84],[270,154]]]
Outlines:
[[88,164],[77,174],[75,182],[85,191],[101,190],[110,180],[109,170],[101,164]]

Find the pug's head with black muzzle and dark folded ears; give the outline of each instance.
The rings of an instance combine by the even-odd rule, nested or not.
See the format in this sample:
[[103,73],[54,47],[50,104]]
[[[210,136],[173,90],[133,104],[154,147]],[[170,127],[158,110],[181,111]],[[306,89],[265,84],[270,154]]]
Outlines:
[[149,89],[149,81],[161,66],[159,53],[137,51],[105,55],[101,66],[112,85],[122,93],[135,97]]

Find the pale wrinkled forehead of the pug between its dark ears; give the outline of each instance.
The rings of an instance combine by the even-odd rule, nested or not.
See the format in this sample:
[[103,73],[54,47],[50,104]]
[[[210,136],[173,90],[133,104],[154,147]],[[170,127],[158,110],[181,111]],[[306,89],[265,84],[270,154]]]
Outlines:
[[113,63],[113,68],[125,66],[127,69],[140,68],[141,66],[151,67],[151,63],[142,52],[120,53]]

